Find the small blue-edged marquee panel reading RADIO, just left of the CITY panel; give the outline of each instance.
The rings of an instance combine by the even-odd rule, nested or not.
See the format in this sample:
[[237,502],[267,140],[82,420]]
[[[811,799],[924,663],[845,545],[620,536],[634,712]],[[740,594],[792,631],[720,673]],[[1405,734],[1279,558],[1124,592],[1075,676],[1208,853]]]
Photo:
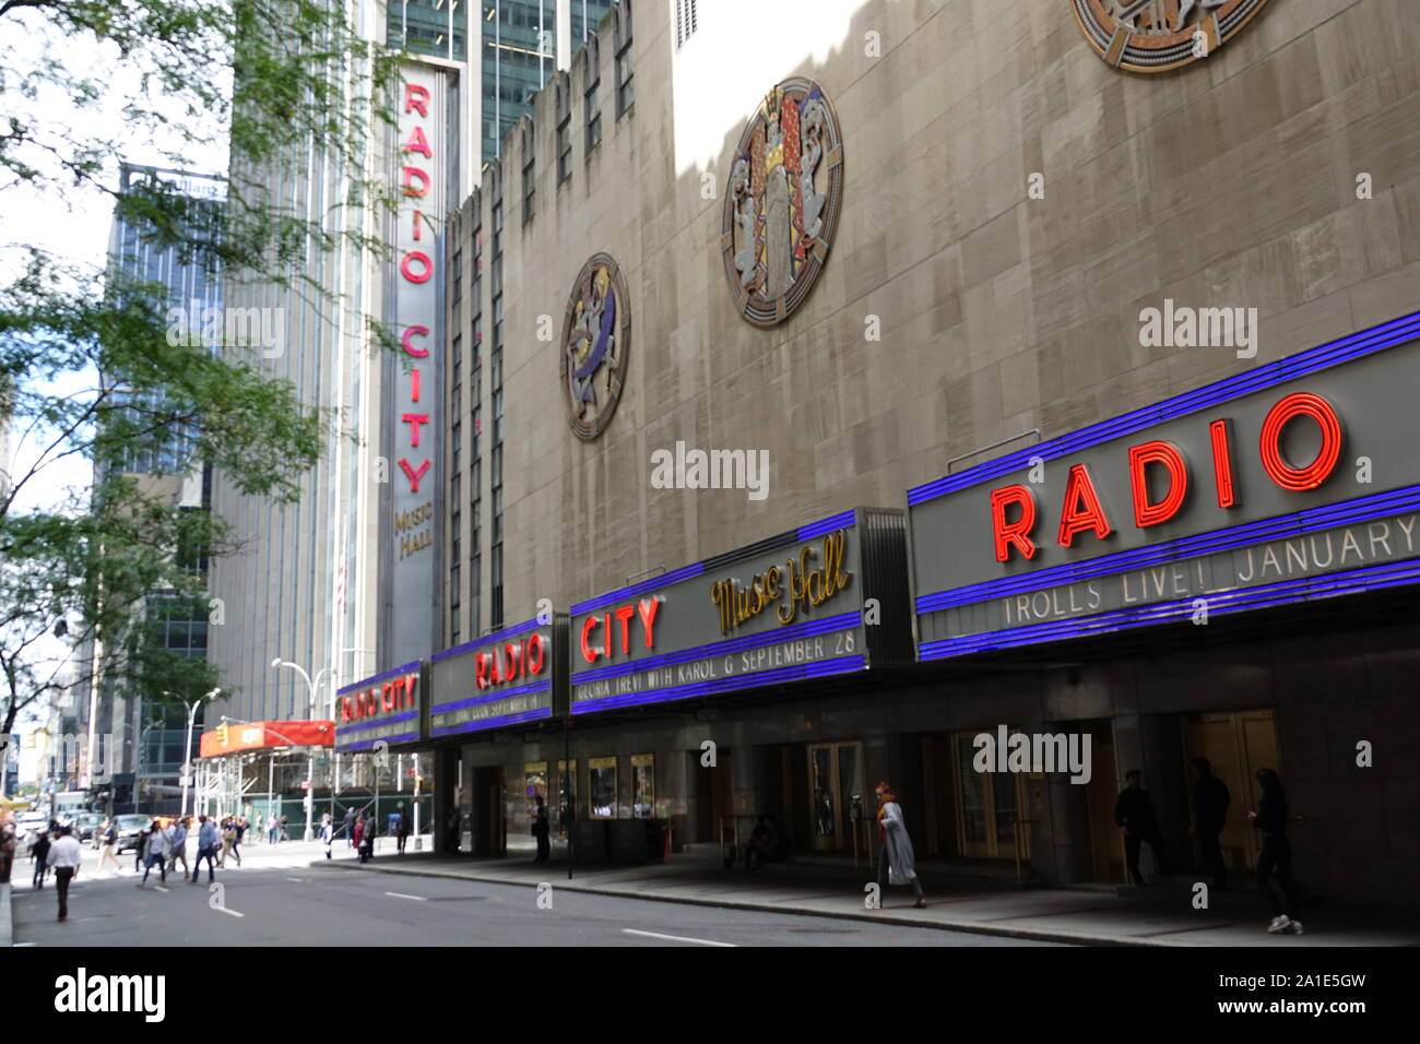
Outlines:
[[532,619],[436,653],[430,734],[551,717],[552,641],[551,625]]

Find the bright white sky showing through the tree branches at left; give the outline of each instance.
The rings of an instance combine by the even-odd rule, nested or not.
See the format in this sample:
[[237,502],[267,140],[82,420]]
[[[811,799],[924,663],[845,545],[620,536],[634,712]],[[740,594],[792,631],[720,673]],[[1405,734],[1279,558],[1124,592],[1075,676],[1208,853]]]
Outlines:
[[[71,99],[55,91],[41,94],[44,98],[44,126],[55,136],[67,135],[72,141],[114,141],[119,155],[105,172],[105,183],[118,187],[118,159],[155,166],[173,166],[163,151],[148,135],[146,129],[125,124],[124,107],[141,98],[139,75],[133,68],[121,68],[116,48],[99,45],[87,38],[64,38],[50,27],[37,11],[16,11],[0,20],[0,68],[34,68],[45,53],[62,55],[64,67],[75,75],[91,75],[106,87],[106,92],[94,105],[78,108]],[[14,84],[0,94],[0,122],[21,107],[33,105],[20,97]],[[158,99],[153,104],[175,119],[183,107],[172,99]],[[169,141],[169,148],[178,148],[178,136]],[[182,166],[197,173],[226,173],[227,153],[223,146],[186,148],[190,159]],[[34,156],[26,155],[33,162]],[[37,163],[38,165],[38,163]],[[58,170],[53,165],[45,173]],[[94,278],[101,277],[106,253],[109,226],[112,223],[112,199],[98,187],[75,186],[72,179],[47,183],[43,189],[18,185],[0,190],[0,280],[9,281],[21,259],[18,246],[38,246],[53,256],[89,268]],[[45,391],[68,393],[71,389],[92,386],[92,372],[68,374]],[[36,456],[48,445],[45,435],[21,440],[21,430],[11,430],[10,450],[13,474],[24,474]],[[62,501],[72,490],[87,490],[91,484],[91,467],[82,457],[67,457],[45,466],[17,497],[11,510],[26,511],[51,507]],[[48,646],[37,653],[37,659],[54,662],[68,652],[67,645],[51,639]],[[16,730],[23,736],[41,724],[34,707],[21,712]],[[36,774],[36,754],[21,747],[20,778]]]

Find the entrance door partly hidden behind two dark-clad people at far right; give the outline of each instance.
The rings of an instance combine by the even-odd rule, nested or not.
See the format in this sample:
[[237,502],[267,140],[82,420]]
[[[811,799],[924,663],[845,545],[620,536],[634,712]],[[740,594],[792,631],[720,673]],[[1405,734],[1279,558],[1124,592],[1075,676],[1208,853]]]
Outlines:
[[[1184,722],[1184,746],[1189,760],[1208,758],[1213,774],[1227,784],[1233,798],[1218,838],[1223,861],[1228,869],[1255,866],[1261,838],[1248,822],[1247,811],[1262,800],[1257,770],[1275,768],[1282,774],[1271,709],[1190,714]],[[1189,793],[1193,793],[1191,773]]]

